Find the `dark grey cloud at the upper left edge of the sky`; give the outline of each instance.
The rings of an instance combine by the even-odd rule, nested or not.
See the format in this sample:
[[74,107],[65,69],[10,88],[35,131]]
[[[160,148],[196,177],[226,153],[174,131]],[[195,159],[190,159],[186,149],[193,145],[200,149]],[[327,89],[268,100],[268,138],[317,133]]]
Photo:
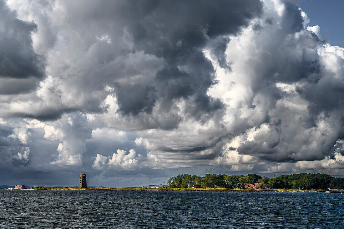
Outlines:
[[37,25],[19,20],[17,16],[5,1],[0,1],[0,77],[4,87],[1,94],[35,89],[37,80],[45,75],[44,56],[37,55],[32,46],[31,35],[36,32]]

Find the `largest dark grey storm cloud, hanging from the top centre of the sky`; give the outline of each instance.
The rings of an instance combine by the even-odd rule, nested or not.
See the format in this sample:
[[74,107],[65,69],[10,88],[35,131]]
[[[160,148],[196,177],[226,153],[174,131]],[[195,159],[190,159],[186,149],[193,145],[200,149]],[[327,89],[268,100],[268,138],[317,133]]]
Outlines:
[[[64,4],[69,17],[73,17],[74,29],[80,33],[91,28],[108,34],[112,45],[116,45],[118,34],[126,31],[132,38],[133,51],[143,50],[163,58],[163,69],[154,82],[146,82],[148,85],[142,85],[142,89],[138,85],[117,83],[115,91],[123,114],[150,113],[156,100],[162,101],[165,110],[171,109],[171,101],[183,98],[197,107],[190,110],[197,118],[202,116],[200,113],[222,108],[221,102],[206,94],[216,81],[213,65],[202,49],[218,36],[240,32],[250,19],[262,12],[262,3],[258,0],[219,1],[217,4],[209,1],[102,1],[97,4],[65,1]],[[222,38],[213,53],[223,67],[228,68],[224,56],[226,41],[227,38]],[[115,58],[109,57],[107,61]],[[133,87],[138,89],[137,95],[131,92]]]

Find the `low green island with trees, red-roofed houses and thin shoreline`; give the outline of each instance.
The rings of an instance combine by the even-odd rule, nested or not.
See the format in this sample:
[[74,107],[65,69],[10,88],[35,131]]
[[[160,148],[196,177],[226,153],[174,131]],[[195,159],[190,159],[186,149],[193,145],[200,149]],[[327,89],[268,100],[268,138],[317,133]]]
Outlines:
[[205,174],[196,176],[179,174],[170,177],[168,185],[148,185],[133,188],[54,188],[30,187],[37,190],[145,190],[145,191],[250,191],[250,192],[342,192],[343,177],[329,174],[299,173],[267,178],[258,174],[226,175]]

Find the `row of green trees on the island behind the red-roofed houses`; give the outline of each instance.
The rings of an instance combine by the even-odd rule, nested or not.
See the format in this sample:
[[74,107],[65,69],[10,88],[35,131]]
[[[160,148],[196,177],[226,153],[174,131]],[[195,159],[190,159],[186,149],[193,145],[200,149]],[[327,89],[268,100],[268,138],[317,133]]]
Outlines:
[[279,189],[341,189],[344,188],[343,177],[332,177],[321,173],[299,173],[290,175],[281,175],[276,178],[267,178],[258,174],[244,175],[226,175],[226,174],[205,174],[205,176],[196,176],[189,174],[179,174],[171,177],[167,181],[170,187],[188,188],[193,185],[200,185],[203,188],[243,188],[246,183],[262,183],[268,188]]

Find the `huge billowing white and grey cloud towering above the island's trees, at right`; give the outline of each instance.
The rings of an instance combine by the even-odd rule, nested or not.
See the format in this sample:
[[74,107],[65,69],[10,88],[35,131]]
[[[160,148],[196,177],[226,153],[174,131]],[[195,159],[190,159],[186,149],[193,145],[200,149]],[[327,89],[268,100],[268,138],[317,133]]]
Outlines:
[[[233,134],[233,124],[243,125],[238,119],[246,119],[247,126],[255,128],[269,119],[266,131],[236,146],[240,155],[258,157],[252,164],[264,162],[266,158],[277,162],[319,160],[324,158],[324,154],[331,154],[334,142],[343,132],[343,126],[337,125],[341,123],[342,114],[336,109],[313,114],[313,101],[300,94],[300,89],[316,85],[314,81],[319,77],[325,80],[327,64],[332,64],[329,67],[331,72],[342,65],[333,62],[333,59],[325,58],[328,60],[326,62],[321,52],[328,44],[323,46],[307,30],[292,32],[291,24],[285,22],[282,16],[288,14],[286,6],[276,9],[277,15],[271,9],[266,10],[265,17],[273,19],[271,24],[270,21],[264,21],[263,17],[255,22],[262,26],[259,31],[247,28],[243,34],[230,37],[226,54],[232,63],[232,72],[226,73],[218,68],[219,83],[209,93],[215,97],[221,96],[227,104],[225,120],[229,133]],[[307,15],[301,13],[301,16],[307,24]],[[284,28],[281,27],[283,24]],[[288,29],[291,33],[286,33]],[[336,55],[338,57],[342,59]],[[310,69],[303,69],[307,64]],[[304,73],[298,76],[302,71]],[[338,71],[337,74],[340,75]],[[234,112],[238,115],[236,119]],[[315,122],[314,125],[310,125],[311,120]],[[231,123],[232,126],[229,126]],[[237,157],[230,159],[233,163],[236,160]],[[288,165],[284,171],[293,167],[293,163],[282,165]],[[273,170],[276,168],[270,169]]]

